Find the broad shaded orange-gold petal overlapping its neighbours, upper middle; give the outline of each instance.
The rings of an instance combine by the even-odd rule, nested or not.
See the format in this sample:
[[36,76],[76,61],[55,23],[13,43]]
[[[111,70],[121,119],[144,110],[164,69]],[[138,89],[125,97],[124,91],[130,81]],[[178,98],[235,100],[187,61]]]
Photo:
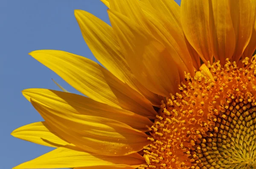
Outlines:
[[125,58],[137,79],[162,96],[176,93],[177,67],[165,46],[122,14],[108,10],[111,25]]

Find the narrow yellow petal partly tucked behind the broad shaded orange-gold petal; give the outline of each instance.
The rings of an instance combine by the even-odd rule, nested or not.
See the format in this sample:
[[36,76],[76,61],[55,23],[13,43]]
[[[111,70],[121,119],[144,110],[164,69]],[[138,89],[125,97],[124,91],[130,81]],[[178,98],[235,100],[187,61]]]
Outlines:
[[86,11],[75,10],[75,16],[84,40],[96,59],[114,76],[149,99],[152,104],[159,105],[161,98],[141,85],[131,72],[111,26]]

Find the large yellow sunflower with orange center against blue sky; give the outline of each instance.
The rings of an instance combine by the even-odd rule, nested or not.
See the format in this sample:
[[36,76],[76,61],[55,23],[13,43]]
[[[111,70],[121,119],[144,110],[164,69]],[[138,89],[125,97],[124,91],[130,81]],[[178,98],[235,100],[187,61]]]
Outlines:
[[256,1],[102,2],[75,16],[105,68],[30,53],[87,97],[23,90],[45,121],[12,135],[56,149],[14,169],[256,168]]

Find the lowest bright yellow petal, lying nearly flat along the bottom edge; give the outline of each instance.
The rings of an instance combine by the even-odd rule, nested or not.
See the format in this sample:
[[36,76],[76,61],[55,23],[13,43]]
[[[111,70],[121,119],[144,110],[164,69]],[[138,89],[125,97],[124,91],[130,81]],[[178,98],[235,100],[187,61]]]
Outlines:
[[76,167],[86,167],[86,169],[90,169],[90,166],[115,166],[116,164],[139,165],[144,162],[144,158],[137,153],[113,157],[84,152],[76,147],[69,146],[68,148],[59,147],[54,149],[38,158],[22,163],[13,169],[56,169]]

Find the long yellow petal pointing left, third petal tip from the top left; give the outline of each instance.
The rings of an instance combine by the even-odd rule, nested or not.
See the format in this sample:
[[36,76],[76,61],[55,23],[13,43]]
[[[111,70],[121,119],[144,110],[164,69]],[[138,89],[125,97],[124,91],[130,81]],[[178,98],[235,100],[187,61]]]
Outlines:
[[151,103],[140,93],[90,59],[55,50],[33,51],[30,55],[95,101],[135,113],[155,114]]

